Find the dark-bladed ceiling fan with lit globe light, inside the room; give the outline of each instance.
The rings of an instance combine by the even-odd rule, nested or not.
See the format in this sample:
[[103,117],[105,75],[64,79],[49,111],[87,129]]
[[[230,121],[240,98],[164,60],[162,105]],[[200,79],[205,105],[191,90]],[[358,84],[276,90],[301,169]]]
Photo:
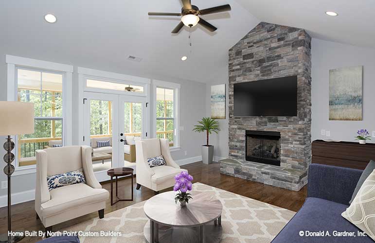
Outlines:
[[206,29],[208,29],[211,32],[214,32],[217,30],[217,28],[204,20],[201,17],[198,17],[199,15],[208,15],[208,14],[216,14],[221,12],[226,12],[231,10],[231,5],[226,4],[222,6],[212,7],[212,8],[206,8],[199,10],[199,8],[195,5],[191,4],[190,0],[181,0],[183,7],[181,9],[181,13],[154,13],[149,12],[149,16],[181,16],[181,21],[176,26],[176,28],[172,31],[173,34],[179,33],[179,31],[182,29],[182,27],[188,26],[188,27],[194,27],[196,24],[200,24]]

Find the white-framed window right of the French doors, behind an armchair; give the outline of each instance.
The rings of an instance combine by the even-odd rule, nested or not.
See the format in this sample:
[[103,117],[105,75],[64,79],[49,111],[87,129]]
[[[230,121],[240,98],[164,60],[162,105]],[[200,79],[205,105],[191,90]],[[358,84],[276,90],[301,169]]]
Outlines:
[[168,139],[172,150],[179,150],[179,84],[154,80],[155,137]]

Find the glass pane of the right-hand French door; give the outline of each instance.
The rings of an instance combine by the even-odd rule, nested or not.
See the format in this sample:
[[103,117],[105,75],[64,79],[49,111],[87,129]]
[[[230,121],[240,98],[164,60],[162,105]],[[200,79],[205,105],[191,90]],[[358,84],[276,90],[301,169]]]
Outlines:
[[124,166],[135,166],[135,140],[142,137],[143,103],[124,104]]

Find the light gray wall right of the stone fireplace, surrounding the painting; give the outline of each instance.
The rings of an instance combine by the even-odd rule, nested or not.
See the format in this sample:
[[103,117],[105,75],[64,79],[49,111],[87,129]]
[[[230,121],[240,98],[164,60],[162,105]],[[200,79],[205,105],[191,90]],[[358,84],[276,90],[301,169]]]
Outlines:
[[[358,129],[375,131],[375,50],[313,39],[311,52],[311,139],[354,141]],[[363,66],[363,121],[329,121],[329,69],[359,65]],[[329,130],[331,137],[322,136],[321,129]]]

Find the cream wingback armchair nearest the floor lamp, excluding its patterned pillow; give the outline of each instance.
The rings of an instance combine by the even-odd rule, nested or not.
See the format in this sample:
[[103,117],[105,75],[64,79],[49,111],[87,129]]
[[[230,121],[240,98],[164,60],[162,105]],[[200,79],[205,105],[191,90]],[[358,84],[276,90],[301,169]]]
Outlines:
[[[49,191],[47,176],[83,169],[86,183],[73,184]],[[98,211],[104,217],[107,190],[102,189],[92,170],[91,147],[67,146],[36,150],[36,217],[46,231],[52,226]]]

